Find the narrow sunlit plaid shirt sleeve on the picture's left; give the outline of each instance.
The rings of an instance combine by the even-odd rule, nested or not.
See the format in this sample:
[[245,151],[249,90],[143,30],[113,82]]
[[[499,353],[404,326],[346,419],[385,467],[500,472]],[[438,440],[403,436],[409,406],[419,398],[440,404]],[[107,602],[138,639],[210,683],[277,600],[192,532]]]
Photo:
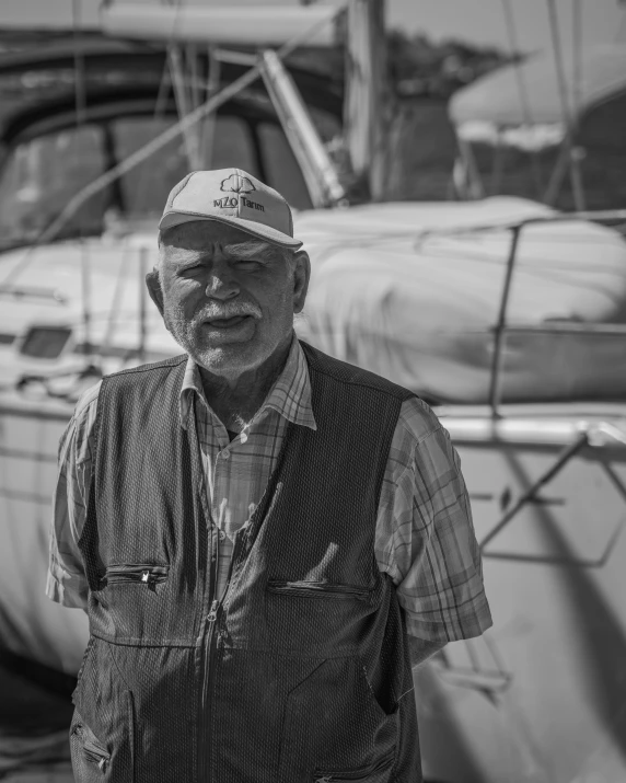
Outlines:
[[86,609],[88,580],[78,542],[89,504],[100,385],[84,392],[61,436],[53,499],[46,595],[63,607],[80,609]]

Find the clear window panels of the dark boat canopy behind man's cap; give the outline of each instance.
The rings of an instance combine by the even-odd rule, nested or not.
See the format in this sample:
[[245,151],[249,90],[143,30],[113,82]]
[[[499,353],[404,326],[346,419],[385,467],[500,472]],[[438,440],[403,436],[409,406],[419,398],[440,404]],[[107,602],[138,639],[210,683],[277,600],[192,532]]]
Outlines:
[[[0,171],[0,250],[28,244],[85,185],[172,124],[171,118],[120,117],[39,136],[16,145]],[[209,139],[212,137],[212,141]],[[234,115],[201,129],[206,168],[245,169],[283,193],[295,208],[311,201],[281,129]],[[262,170],[263,169],[263,170]],[[93,196],[57,239],[100,234],[118,222],[153,229],[173,185],[189,171],[185,142],[171,141]]]

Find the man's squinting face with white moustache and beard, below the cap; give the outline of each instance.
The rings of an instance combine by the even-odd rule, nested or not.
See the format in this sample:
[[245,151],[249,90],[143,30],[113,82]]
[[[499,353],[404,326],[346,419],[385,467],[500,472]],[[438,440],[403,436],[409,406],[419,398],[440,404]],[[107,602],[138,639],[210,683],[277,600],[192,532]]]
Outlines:
[[204,368],[223,376],[254,369],[291,341],[309,284],[305,253],[234,227],[198,220],[162,237],[159,283],[165,325]]

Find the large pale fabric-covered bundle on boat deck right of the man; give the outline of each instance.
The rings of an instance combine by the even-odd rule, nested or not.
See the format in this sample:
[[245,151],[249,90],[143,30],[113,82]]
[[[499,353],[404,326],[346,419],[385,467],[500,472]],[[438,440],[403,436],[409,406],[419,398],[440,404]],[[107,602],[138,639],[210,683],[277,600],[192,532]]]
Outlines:
[[[313,270],[297,330],[322,350],[433,402],[487,402],[511,239],[505,227],[553,214],[513,197],[301,212],[295,235]],[[485,226],[494,228],[475,230]],[[467,232],[449,232],[454,227]],[[582,220],[525,228],[507,320],[624,323],[621,234]],[[517,332],[503,357],[505,400],[626,394],[623,335]]]

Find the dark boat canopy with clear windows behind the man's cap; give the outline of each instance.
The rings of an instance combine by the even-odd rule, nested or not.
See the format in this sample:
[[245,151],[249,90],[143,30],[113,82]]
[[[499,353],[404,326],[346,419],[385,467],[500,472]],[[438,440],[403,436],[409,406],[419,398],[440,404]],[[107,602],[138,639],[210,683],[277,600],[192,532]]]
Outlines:
[[[207,97],[209,77],[217,91],[255,61],[255,54],[243,49],[218,51],[217,66],[207,48],[182,55],[188,61],[194,58],[185,78],[193,73],[198,103]],[[329,141],[341,130],[341,73],[309,67],[316,60],[311,51],[295,57],[287,67],[322,138]],[[59,205],[177,119],[170,65],[162,44],[109,39],[98,33],[28,37],[0,31],[0,249],[32,241]],[[246,168],[292,206],[311,206],[260,78],[220,106],[210,138],[208,165]],[[154,217],[189,168],[185,139],[174,139],[155,159],[92,198],[60,238],[98,233],[109,208],[126,219]]]

